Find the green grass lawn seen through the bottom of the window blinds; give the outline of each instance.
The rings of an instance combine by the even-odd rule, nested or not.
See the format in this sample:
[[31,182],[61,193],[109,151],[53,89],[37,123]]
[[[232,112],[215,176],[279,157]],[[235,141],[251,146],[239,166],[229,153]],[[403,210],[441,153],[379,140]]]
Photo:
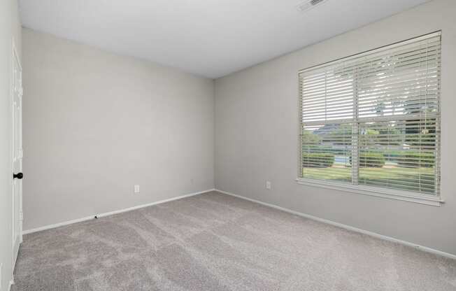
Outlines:
[[[344,166],[329,168],[303,168],[303,178],[343,181],[351,183],[352,169]],[[434,168],[411,169],[399,166],[361,168],[359,185],[381,186],[413,192],[435,192]]]

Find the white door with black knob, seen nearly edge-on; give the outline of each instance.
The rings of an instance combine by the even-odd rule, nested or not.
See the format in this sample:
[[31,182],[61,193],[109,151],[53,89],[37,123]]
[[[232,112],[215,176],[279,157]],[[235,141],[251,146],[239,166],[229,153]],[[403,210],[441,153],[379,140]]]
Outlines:
[[22,243],[22,68],[13,45],[13,268]]

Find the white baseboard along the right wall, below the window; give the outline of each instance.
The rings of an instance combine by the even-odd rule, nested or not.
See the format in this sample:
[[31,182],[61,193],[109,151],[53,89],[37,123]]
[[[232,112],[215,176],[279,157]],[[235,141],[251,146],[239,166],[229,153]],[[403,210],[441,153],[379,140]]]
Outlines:
[[233,194],[233,193],[222,191],[222,190],[218,190],[218,189],[215,189],[215,191],[223,193],[223,194],[227,194],[227,195],[230,195],[230,196],[233,196],[233,197],[238,197],[238,198],[241,198],[241,199],[244,199],[244,200],[248,200],[248,201],[251,201],[251,202],[255,202],[257,204],[262,204],[264,206],[269,206],[271,208],[276,208],[278,210],[285,211],[287,213],[292,213],[292,214],[295,214],[295,215],[299,215],[299,216],[302,216],[304,218],[309,218],[311,220],[320,221],[320,222],[326,223],[328,225],[334,225],[336,227],[341,227],[343,229],[348,229],[348,230],[351,230],[352,232],[359,232],[361,234],[367,234],[367,235],[373,236],[373,237],[375,237],[377,239],[383,239],[385,241],[392,241],[394,243],[400,243],[400,244],[402,244],[404,246],[411,246],[413,248],[417,248],[419,250],[423,250],[423,251],[425,251],[427,253],[433,253],[435,255],[441,255],[443,257],[449,257],[450,259],[456,260],[456,255],[453,255],[453,254],[450,254],[450,253],[446,253],[446,252],[443,252],[441,250],[435,250],[434,248],[428,248],[427,246],[420,246],[420,245],[418,245],[416,243],[411,243],[409,241],[402,241],[401,239],[394,239],[393,237],[390,237],[390,236],[384,236],[383,234],[377,234],[376,232],[369,232],[367,230],[359,229],[357,227],[350,227],[350,225],[343,225],[342,223],[339,223],[339,222],[334,222],[332,220],[327,220],[327,219],[324,219],[324,218],[318,218],[318,217],[313,216],[313,215],[308,215],[306,213],[293,211],[293,210],[288,209],[288,208],[283,208],[283,207],[280,207],[280,206],[277,206],[277,205],[274,205],[274,204],[269,204],[269,203],[266,203],[266,202],[262,202],[262,201],[259,201],[259,200],[250,199],[248,197],[243,197],[243,196],[238,195],[238,194]]

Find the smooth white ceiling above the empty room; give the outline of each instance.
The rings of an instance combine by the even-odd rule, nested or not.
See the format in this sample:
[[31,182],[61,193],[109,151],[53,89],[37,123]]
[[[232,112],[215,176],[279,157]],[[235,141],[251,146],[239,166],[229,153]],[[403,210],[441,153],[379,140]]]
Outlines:
[[427,0],[21,0],[24,27],[218,78]]

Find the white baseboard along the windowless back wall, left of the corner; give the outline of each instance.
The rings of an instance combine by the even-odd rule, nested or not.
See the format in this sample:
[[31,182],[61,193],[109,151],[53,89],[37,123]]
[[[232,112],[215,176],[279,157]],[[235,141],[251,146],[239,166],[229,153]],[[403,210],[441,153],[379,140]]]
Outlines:
[[68,220],[68,221],[64,221],[64,222],[55,223],[53,225],[45,225],[43,227],[37,227],[37,228],[34,228],[34,229],[27,229],[27,230],[24,230],[22,232],[22,234],[23,235],[24,234],[31,234],[33,232],[41,232],[41,231],[46,230],[46,229],[52,229],[52,228],[55,228],[55,227],[62,227],[64,225],[72,225],[73,223],[76,223],[76,222],[83,222],[83,221],[86,221],[86,220],[94,219],[94,216],[97,216],[98,218],[101,218],[101,217],[108,216],[108,215],[113,215],[113,214],[117,214],[117,213],[132,211],[132,210],[135,210],[135,209],[144,208],[144,207],[157,205],[157,204],[162,204],[162,203],[173,201],[173,200],[178,200],[178,199],[183,199],[183,198],[187,198],[187,197],[192,197],[192,196],[195,196],[195,195],[198,195],[198,194],[203,194],[203,193],[207,193],[207,192],[211,192],[211,191],[215,191],[215,189],[208,189],[208,190],[204,190],[204,191],[200,191],[200,192],[194,192],[194,193],[190,193],[190,194],[181,195],[181,196],[178,196],[178,197],[173,197],[173,198],[170,198],[170,199],[164,199],[164,200],[155,201],[155,202],[148,203],[148,204],[137,205],[137,206],[124,208],[124,209],[120,209],[120,210],[116,210],[116,211],[110,211],[110,212],[105,212],[105,213],[96,213],[96,214],[91,215],[91,216],[86,216],[85,218],[77,218],[77,219],[73,219],[73,220]]

